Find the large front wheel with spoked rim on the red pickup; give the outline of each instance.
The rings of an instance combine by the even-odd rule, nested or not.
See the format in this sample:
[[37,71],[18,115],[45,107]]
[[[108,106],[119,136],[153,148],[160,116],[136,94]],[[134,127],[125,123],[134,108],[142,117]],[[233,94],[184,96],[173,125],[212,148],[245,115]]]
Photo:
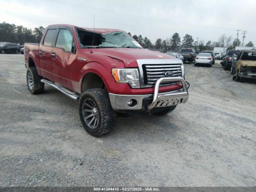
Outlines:
[[108,93],[101,88],[89,89],[81,94],[79,116],[86,132],[95,137],[108,134],[117,118]]

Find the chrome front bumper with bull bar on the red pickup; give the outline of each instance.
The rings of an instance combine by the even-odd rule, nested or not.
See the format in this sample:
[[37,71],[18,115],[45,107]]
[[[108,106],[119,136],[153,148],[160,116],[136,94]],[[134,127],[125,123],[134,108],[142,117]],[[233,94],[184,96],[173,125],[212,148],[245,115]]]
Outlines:
[[[182,83],[183,88],[170,92],[159,93],[159,86],[162,82]],[[149,111],[154,107],[168,107],[188,100],[188,88],[181,77],[163,77],[156,81],[154,94],[146,95],[120,95],[109,93],[110,103],[114,110],[142,110]],[[128,106],[129,100],[136,100],[136,105]]]

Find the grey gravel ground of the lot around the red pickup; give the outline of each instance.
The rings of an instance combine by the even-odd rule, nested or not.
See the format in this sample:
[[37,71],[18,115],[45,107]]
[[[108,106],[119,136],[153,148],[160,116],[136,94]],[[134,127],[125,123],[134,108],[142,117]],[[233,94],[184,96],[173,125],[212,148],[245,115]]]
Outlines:
[[0,54],[0,186],[253,186],[256,83],[219,61],[185,69],[186,104],[94,138],[77,101],[50,86],[30,94],[23,55]]

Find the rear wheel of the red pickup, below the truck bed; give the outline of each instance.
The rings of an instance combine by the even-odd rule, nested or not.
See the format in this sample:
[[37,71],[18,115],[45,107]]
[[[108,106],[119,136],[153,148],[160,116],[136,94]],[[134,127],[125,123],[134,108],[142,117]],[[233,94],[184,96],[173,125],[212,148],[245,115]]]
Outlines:
[[27,85],[31,94],[40,94],[44,91],[44,83],[41,82],[42,77],[38,75],[35,67],[27,70]]

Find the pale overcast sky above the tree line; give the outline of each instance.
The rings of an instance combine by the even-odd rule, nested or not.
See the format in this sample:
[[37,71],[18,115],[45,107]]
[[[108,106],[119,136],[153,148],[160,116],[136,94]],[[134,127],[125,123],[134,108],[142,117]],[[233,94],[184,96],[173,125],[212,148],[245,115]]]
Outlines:
[[[73,24],[118,28],[141,34],[154,43],[175,32],[194,40],[218,41],[221,34],[236,38],[246,30],[245,44],[256,45],[256,0],[0,0],[0,22],[28,28]],[[242,34],[239,32],[242,42]]]

